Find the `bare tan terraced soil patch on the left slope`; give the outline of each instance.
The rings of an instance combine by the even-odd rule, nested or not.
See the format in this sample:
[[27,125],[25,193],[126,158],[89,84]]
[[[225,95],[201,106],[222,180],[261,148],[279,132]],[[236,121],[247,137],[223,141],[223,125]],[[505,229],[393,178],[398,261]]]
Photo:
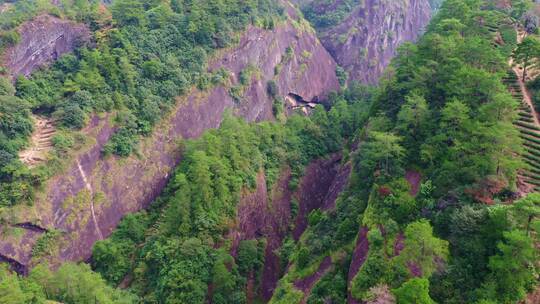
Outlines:
[[47,159],[47,153],[52,149],[52,138],[56,133],[55,122],[52,119],[34,116],[34,132],[28,148],[19,152],[19,159],[33,167]]

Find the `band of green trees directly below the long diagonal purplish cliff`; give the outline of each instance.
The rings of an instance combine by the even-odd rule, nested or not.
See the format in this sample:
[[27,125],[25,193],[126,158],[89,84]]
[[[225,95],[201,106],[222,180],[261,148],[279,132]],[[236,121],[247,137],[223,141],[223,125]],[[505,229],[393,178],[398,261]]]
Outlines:
[[213,302],[244,303],[248,274],[262,270],[265,243],[241,242],[237,259],[230,255],[224,236],[241,190],[252,189],[259,172],[271,186],[284,166],[298,178],[309,160],[338,151],[365,106],[340,102],[329,113],[318,108],[311,118],[294,116],[285,125],[226,119],[186,144],[183,163],[149,212],[126,217],[94,246],[95,269],[114,283],[130,274],[145,301],[201,303],[212,284]]

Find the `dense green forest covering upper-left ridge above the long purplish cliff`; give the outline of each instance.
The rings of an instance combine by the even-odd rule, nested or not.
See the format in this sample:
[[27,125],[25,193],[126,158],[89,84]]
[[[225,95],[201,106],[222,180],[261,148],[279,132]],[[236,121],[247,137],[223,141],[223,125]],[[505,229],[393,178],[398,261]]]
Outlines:
[[[234,45],[236,33],[248,24],[273,27],[283,10],[270,0],[119,0],[110,16],[98,1],[67,2],[59,9],[49,1],[17,1],[0,15],[5,35],[50,12],[87,23],[97,42],[96,48],[78,49],[29,79],[20,77],[15,91],[0,75],[0,96],[7,96],[1,97],[7,100],[2,111],[13,113],[0,117],[0,206],[31,202],[34,188],[58,171],[53,161],[30,172],[17,158],[32,130],[31,111],[52,116],[66,130],[82,128],[91,113],[115,111],[118,129],[103,152],[129,156],[138,136],[150,134],[175,105],[175,96],[192,86],[205,90],[228,81],[227,71],[210,75],[206,70],[216,49]],[[69,143],[71,137],[58,142]]]

